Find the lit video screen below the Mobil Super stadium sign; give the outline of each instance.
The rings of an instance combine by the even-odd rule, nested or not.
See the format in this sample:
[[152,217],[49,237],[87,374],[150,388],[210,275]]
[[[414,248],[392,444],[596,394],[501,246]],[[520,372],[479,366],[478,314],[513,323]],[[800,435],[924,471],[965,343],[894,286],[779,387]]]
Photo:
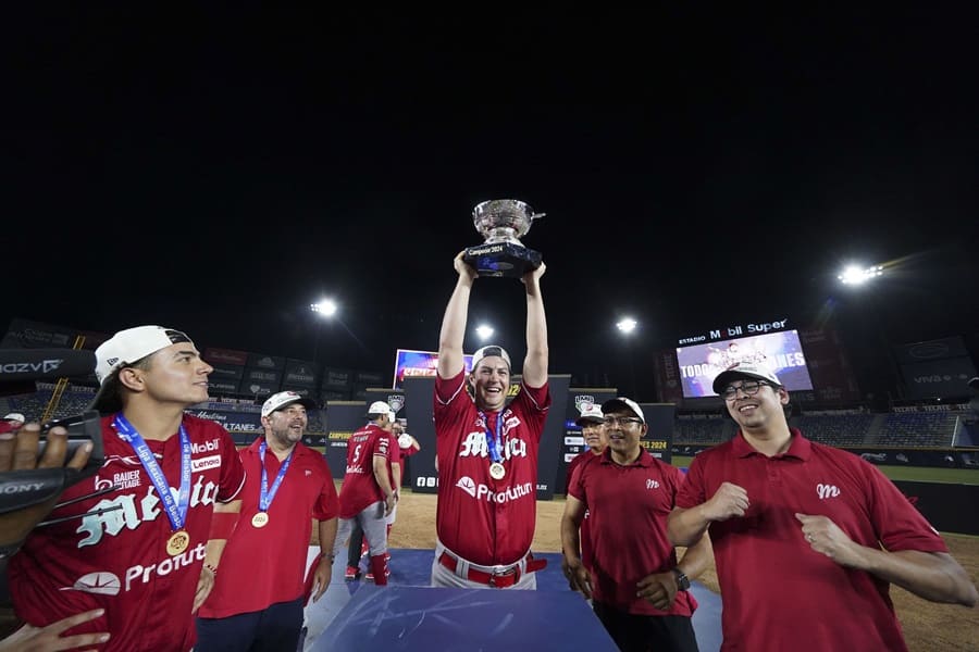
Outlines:
[[798,333],[783,330],[677,349],[683,397],[716,397],[711,385],[735,362],[766,366],[789,391],[813,389]]

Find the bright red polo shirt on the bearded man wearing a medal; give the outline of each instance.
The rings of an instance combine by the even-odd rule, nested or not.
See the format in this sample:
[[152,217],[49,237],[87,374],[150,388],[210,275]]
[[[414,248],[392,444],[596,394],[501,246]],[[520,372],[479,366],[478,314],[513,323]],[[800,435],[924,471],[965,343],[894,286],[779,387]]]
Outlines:
[[[329,521],[339,513],[326,460],[322,453],[297,443],[269,505],[269,523],[255,527],[251,518],[259,512],[262,441],[264,438],[259,438],[240,451],[248,474],[241,491],[241,515],[221,555],[214,589],[198,612],[202,618],[262,611],[276,602],[289,602],[302,595],[312,522]],[[280,468],[278,457],[267,450],[265,476],[270,487]],[[256,563],[264,557],[274,557],[276,563]]]

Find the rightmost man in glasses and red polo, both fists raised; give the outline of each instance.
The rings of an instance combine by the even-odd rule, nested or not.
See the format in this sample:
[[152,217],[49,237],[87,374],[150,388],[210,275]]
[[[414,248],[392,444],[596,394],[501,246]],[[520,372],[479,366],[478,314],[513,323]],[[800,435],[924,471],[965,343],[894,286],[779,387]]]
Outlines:
[[714,391],[741,428],[694,459],[669,535],[684,546],[709,526],[724,649],[906,650],[891,582],[933,602],[979,602],[877,467],[789,427],[789,392],[771,371],[733,365]]

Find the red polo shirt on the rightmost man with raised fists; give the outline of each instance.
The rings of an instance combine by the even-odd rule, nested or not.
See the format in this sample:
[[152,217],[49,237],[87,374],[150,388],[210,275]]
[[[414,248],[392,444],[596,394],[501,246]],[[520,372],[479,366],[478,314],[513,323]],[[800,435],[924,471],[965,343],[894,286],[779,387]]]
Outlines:
[[[766,457],[739,434],[694,457],[677,497],[693,507],[721,482],[743,487],[742,517],[710,524],[724,600],[724,650],[906,650],[889,582],[811,549],[795,513],[832,519],[860,546],[947,552],[941,536],[877,467],[792,429]],[[786,609],[791,605],[791,609]]]

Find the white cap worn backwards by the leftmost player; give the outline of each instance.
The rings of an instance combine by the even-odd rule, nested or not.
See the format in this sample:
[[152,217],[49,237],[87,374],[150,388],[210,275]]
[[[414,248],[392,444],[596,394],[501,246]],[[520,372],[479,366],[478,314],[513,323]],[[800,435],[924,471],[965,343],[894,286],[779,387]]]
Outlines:
[[101,387],[89,410],[102,413],[122,410],[122,402],[109,380],[115,377],[120,368],[177,342],[194,346],[194,341],[186,333],[163,326],[126,328],[102,342],[96,349],[96,378],[99,379]]

